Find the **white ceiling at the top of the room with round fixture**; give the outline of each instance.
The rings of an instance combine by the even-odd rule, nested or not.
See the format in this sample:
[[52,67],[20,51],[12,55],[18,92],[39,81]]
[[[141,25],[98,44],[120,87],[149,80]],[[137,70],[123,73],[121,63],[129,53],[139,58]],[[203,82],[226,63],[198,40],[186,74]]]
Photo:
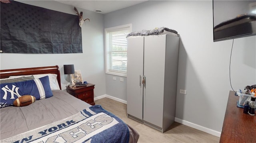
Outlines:
[[[101,10],[101,14],[106,14],[129,6],[146,2],[147,0],[56,0],[58,2],[83,8],[90,11]],[[78,10],[79,11],[79,10]]]

